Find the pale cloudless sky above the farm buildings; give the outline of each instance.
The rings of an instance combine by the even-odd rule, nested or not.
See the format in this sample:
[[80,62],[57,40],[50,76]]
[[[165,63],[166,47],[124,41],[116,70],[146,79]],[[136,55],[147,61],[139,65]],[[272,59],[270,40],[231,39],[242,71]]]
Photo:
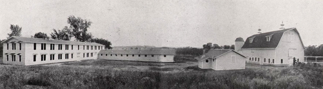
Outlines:
[[112,46],[199,47],[235,44],[253,34],[296,27],[303,43],[323,44],[323,0],[0,0],[0,39],[10,24],[22,37],[69,26],[70,15],[93,22],[94,37]]

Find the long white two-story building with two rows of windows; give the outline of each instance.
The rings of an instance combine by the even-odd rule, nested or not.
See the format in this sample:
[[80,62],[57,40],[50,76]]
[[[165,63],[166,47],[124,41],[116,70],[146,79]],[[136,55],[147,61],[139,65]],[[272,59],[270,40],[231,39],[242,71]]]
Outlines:
[[104,49],[98,43],[49,40],[12,36],[3,42],[4,64],[38,65],[59,62],[97,59]]

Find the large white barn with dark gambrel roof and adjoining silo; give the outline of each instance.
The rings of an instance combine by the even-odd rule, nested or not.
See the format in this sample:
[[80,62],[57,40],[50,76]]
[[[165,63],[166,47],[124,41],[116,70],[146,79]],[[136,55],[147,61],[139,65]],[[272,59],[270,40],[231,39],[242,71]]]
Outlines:
[[287,66],[296,61],[304,62],[304,50],[301,36],[296,28],[261,33],[248,37],[245,42],[236,39],[236,51],[247,56],[247,63],[259,65]]

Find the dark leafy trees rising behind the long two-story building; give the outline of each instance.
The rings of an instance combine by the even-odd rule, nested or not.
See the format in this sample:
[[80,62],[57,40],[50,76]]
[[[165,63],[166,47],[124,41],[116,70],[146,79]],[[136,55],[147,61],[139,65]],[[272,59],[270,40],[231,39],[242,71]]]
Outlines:
[[[81,17],[75,17],[71,15],[67,19],[69,26],[63,27],[63,29],[53,29],[53,32],[48,36],[44,32],[37,32],[31,35],[32,38],[44,38],[44,39],[55,39],[55,40],[68,40],[70,41],[72,37],[75,37],[76,41],[81,42],[95,42],[105,45],[105,48],[112,49],[111,42],[103,38],[94,38],[94,36],[88,32],[88,28],[91,26],[92,22],[87,19],[82,19]],[[10,25],[11,33],[8,33],[8,37],[11,36],[21,36],[21,29],[18,25]]]

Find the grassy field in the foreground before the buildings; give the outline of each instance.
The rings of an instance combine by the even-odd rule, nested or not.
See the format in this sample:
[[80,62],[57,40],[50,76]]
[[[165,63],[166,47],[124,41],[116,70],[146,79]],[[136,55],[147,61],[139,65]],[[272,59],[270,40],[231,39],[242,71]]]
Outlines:
[[199,69],[197,62],[84,60],[0,65],[0,89],[322,89],[323,67],[246,64],[244,70]]

